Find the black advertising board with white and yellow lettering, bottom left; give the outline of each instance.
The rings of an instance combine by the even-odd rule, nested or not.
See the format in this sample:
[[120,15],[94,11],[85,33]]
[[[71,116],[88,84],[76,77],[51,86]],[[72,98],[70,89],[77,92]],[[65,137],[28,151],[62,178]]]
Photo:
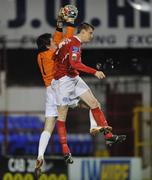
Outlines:
[[[36,180],[34,176],[35,159],[27,157],[1,157],[0,179]],[[63,159],[46,158],[39,180],[68,180],[67,166]]]

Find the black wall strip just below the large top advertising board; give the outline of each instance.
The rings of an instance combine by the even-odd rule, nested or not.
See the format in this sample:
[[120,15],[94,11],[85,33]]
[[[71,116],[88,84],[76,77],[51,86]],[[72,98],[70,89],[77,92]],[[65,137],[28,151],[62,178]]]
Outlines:
[[[0,51],[1,69],[7,69],[7,85],[42,86],[34,49]],[[107,76],[152,75],[152,49],[84,49],[83,62],[91,67],[101,63]],[[88,74],[81,73],[82,76]]]

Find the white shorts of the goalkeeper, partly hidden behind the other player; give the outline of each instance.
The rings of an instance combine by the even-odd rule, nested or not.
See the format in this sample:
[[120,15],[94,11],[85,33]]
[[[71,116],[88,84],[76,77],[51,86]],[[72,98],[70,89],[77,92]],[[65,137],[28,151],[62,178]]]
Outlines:
[[55,93],[51,86],[46,88],[46,104],[45,104],[45,117],[58,116],[57,104]]

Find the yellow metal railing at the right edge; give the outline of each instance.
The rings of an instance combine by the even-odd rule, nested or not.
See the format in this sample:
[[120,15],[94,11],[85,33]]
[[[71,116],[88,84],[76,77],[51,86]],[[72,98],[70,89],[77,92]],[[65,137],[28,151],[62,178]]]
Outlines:
[[[144,126],[144,113],[149,115],[149,130]],[[149,113],[149,114],[147,114]],[[133,110],[133,128],[134,128],[134,154],[135,156],[140,156],[142,158],[143,166],[150,167],[149,178],[152,178],[152,107],[136,107]],[[141,129],[143,127],[143,130]],[[145,131],[145,132],[144,132]],[[144,133],[147,133],[145,140],[143,138]],[[149,154],[149,156],[148,156]],[[148,157],[148,158],[147,158]],[[145,165],[145,161],[148,162]]]

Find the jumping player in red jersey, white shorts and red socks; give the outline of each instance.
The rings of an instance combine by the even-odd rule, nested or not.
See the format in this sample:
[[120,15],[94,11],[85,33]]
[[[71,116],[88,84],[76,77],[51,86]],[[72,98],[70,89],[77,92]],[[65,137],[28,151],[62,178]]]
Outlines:
[[89,106],[97,126],[100,127],[97,127],[97,131],[104,133],[106,144],[111,145],[126,139],[126,135],[112,134],[112,128],[108,126],[104,113],[99,107],[99,102],[88,85],[79,76],[79,71],[83,71],[96,76],[98,79],[105,78],[102,71],[97,71],[81,62],[81,44],[92,40],[93,31],[94,27],[92,25],[82,23],[78,27],[77,35],[62,41],[55,52],[54,59],[57,65],[54,78],[56,84],[53,88],[57,92],[58,134],[65,152],[67,151],[65,121],[68,104],[73,100],[79,101],[81,99]]

